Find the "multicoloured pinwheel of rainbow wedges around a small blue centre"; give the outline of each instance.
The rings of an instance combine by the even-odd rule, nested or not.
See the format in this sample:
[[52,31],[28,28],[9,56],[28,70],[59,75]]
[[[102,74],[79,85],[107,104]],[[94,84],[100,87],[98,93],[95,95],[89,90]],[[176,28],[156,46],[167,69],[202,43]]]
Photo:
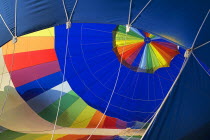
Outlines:
[[154,73],[159,68],[169,67],[179,54],[177,45],[132,27],[126,33],[123,25],[113,31],[113,47],[118,60],[136,72]]

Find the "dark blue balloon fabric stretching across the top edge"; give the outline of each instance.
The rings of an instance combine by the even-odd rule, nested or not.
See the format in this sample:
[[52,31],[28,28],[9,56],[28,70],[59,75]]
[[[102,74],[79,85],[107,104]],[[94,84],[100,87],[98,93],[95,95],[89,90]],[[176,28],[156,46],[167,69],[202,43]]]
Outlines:
[[[75,0],[65,2],[68,13],[71,13]],[[133,0],[131,21],[147,2],[148,0]],[[0,1],[0,13],[12,30],[14,3],[15,1]],[[209,5],[209,0],[153,0],[133,27],[163,36],[189,48],[209,10]],[[124,25],[127,24],[128,10],[129,0],[79,0],[72,22]],[[66,22],[62,1],[59,0],[19,0],[17,13],[18,36]],[[5,30],[2,21],[0,31],[2,46],[11,36]]]

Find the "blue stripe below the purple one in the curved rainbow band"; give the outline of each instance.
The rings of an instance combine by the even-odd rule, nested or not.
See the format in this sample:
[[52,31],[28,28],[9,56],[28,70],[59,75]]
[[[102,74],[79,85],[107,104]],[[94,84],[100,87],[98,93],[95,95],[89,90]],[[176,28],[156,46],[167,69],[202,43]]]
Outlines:
[[62,73],[56,72],[54,74],[37,79],[25,85],[16,87],[16,90],[25,101],[28,101],[31,98],[34,98],[42,94],[43,92],[55,87],[56,85],[62,83],[62,80]]

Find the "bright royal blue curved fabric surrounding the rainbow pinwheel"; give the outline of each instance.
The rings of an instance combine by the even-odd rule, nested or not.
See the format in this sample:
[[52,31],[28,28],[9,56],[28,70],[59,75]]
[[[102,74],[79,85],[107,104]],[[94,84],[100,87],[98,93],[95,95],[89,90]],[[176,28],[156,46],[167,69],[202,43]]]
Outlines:
[[[108,24],[73,24],[70,29],[66,79],[86,103],[101,112],[110,99],[120,66],[112,51],[115,28]],[[66,31],[65,25],[55,27],[55,50],[62,71]],[[171,67],[155,74],[134,72],[122,65],[107,115],[125,121],[147,121],[168,92],[182,62],[180,54]]]

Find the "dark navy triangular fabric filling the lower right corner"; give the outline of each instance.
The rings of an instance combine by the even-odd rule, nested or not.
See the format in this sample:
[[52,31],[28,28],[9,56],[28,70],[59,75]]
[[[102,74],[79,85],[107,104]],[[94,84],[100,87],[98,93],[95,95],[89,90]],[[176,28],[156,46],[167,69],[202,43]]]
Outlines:
[[143,140],[210,139],[210,77],[193,56]]

